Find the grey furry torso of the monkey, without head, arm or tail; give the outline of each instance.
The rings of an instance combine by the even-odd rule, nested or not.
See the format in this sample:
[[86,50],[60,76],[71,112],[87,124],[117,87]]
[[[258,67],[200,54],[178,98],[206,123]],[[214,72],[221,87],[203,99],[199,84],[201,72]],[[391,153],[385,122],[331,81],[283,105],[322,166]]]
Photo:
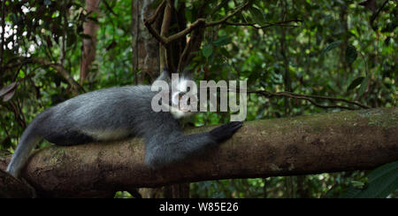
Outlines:
[[[100,89],[73,97],[34,119],[36,133],[58,145],[119,140],[142,134],[158,115],[150,107],[150,86]],[[153,121],[153,120],[152,120]]]

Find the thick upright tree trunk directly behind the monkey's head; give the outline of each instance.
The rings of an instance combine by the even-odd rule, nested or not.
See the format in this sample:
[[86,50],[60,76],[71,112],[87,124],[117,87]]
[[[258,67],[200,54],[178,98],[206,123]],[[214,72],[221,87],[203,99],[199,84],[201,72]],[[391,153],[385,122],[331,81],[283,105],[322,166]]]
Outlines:
[[[166,50],[159,46],[159,42],[149,34],[148,29],[143,25],[143,19],[148,19],[154,12],[149,5],[154,0],[134,1],[132,2],[132,35],[133,35],[133,72],[134,83],[142,83],[145,80],[153,81],[163,68],[168,67],[166,62]],[[171,8],[167,7],[166,19],[159,16],[155,21],[155,26],[162,35],[168,34],[168,28],[171,25]],[[163,18],[163,19],[162,19]],[[175,68],[176,66],[172,66]],[[169,69],[172,69],[169,68]],[[140,72],[140,74],[138,74]],[[184,189],[182,189],[184,188]],[[165,189],[143,189],[143,197],[188,197],[189,185],[176,185],[166,187]]]

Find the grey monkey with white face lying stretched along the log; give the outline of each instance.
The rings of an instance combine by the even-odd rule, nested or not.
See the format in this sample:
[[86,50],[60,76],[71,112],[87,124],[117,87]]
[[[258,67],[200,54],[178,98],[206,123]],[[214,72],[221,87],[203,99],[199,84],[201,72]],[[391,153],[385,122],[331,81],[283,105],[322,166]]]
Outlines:
[[[164,70],[157,81],[171,83],[170,74]],[[184,79],[181,77],[180,81]],[[184,93],[179,92],[178,99]],[[156,94],[150,85],[114,87],[81,94],[50,107],[29,123],[6,171],[19,178],[31,151],[42,139],[59,146],[73,146],[128,137],[144,139],[144,163],[157,169],[218,146],[243,124],[232,121],[209,132],[184,135],[179,119],[191,113],[154,112],[151,101]]]

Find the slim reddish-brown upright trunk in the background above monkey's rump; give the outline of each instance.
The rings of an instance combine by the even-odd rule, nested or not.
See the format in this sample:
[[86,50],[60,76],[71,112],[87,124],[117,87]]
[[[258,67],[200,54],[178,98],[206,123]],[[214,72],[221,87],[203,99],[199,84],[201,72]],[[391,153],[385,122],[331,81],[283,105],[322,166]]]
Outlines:
[[[99,12],[100,0],[86,0],[86,10],[90,13],[89,17],[92,17],[93,13]],[[83,24],[83,34],[90,36],[90,38],[83,39],[83,47],[81,50],[81,62],[80,62],[80,84],[88,78],[91,66],[96,59],[96,30],[98,25],[95,21],[88,19]]]

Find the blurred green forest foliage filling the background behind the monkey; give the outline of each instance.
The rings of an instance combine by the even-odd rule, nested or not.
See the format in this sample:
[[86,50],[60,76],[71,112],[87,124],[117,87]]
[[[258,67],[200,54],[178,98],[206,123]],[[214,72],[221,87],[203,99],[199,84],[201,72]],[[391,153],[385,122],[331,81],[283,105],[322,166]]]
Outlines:
[[[200,80],[246,79],[250,90],[335,96],[371,107],[396,106],[397,3],[388,1],[372,20],[375,11],[359,2],[252,1],[247,10],[229,21],[256,23],[256,27],[206,28],[202,50],[195,53],[189,68]],[[199,0],[174,3],[176,8],[185,5],[184,16],[192,23],[201,9],[210,14],[207,19],[219,20],[243,1],[210,0],[204,5]],[[84,1],[7,0],[4,4],[0,87],[8,89],[0,94],[4,100],[0,102],[0,149],[12,150],[23,128],[36,113],[73,96],[71,87],[53,68],[24,64],[16,59],[49,59],[64,66],[75,80],[79,80],[81,41],[87,37],[82,34],[82,25],[88,19],[88,12],[83,9]],[[133,83],[131,6],[132,1],[102,1],[101,12],[90,18],[99,24],[99,31],[96,62],[88,81],[83,83],[85,89]],[[286,20],[296,21],[272,25]],[[266,25],[270,27],[264,27]],[[319,100],[318,103],[330,102]],[[248,108],[247,120],[340,111],[296,99],[266,98],[256,94],[249,96]],[[228,119],[226,113],[208,112],[197,115],[194,123],[210,125]],[[364,176],[364,172],[354,172],[203,181],[191,184],[191,196],[340,197],[353,185],[356,185],[356,192],[359,191],[357,187],[367,189],[356,196],[398,196],[396,191],[391,193],[392,188],[385,192],[387,184],[377,191],[378,187],[372,185],[380,178],[372,179],[370,175],[368,185]],[[384,180],[392,178],[388,174],[381,176],[386,176],[381,178]]]

